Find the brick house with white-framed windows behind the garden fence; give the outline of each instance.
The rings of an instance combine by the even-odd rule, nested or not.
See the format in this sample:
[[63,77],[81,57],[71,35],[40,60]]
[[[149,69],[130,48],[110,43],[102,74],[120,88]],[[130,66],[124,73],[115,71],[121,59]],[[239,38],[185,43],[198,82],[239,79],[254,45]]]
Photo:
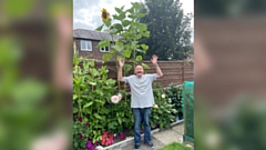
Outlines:
[[[111,34],[105,32],[84,29],[73,30],[74,53],[78,53],[79,57],[86,57],[88,59],[101,61],[102,56],[110,50],[110,47],[96,48],[102,39],[112,41]],[[117,36],[113,37],[114,41],[117,39]]]

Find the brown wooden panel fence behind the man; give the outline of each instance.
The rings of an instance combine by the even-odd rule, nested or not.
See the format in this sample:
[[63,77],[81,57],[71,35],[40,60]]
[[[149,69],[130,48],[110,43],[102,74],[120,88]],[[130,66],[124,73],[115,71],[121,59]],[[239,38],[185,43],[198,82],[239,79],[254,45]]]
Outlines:
[[[150,69],[145,69],[145,73],[156,73],[155,67],[151,61],[143,61]],[[109,77],[117,79],[115,62],[105,62],[109,68]],[[100,68],[102,62],[96,62],[95,67]],[[182,84],[184,81],[194,80],[194,63],[181,62],[181,61],[158,61],[158,66],[163,72],[163,77],[157,80],[163,87],[167,87],[170,83]],[[133,69],[126,74],[133,74]]]

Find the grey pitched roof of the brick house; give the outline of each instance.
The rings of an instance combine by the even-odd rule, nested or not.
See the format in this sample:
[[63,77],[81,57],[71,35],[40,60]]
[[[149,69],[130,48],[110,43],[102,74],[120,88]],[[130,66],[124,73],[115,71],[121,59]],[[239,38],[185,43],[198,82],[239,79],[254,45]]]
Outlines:
[[[112,37],[110,33],[93,31],[93,30],[84,30],[84,29],[75,29],[73,31],[73,38],[81,38],[81,39],[89,39],[89,40],[102,40],[102,39],[108,39],[110,41],[112,40]],[[119,36],[113,37],[114,41],[116,41],[117,39],[119,39]]]

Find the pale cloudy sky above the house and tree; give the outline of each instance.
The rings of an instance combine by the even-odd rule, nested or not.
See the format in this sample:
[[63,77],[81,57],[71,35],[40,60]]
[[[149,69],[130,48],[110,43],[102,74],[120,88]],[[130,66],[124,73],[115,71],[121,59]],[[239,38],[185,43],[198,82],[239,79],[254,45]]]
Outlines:
[[[105,8],[110,14],[115,14],[114,8],[131,7],[131,2],[144,0],[73,0],[73,29],[95,30],[102,24],[101,10]],[[185,13],[194,14],[194,0],[180,0]],[[191,27],[194,28],[194,20]]]

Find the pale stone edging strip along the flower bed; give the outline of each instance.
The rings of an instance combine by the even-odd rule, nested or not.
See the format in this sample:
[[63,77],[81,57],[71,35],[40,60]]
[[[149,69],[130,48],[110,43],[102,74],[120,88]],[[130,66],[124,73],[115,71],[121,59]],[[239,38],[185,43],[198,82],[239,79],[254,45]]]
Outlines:
[[[170,127],[174,127],[174,126],[180,124],[180,123],[183,123],[183,122],[184,122],[184,119],[171,123]],[[164,129],[167,129],[167,128],[164,128]],[[151,134],[154,134],[154,133],[156,133],[156,132],[160,132],[160,131],[162,131],[162,130],[164,130],[164,129],[161,129],[161,130],[160,130],[160,129],[152,130],[152,131],[151,131]],[[141,137],[143,138],[144,134],[142,134]],[[124,146],[126,146],[129,142],[133,141],[133,140],[134,140],[134,137],[129,138],[129,139],[126,139],[126,140],[123,140],[123,141],[121,141],[121,142],[114,143],[114,144],[112,144],[112,146],[105,147],[105,148],[96,149],[96,150],[115,150],[115,148],[119,149],[119,148],[121,148],[121,147],[124,147]]]

